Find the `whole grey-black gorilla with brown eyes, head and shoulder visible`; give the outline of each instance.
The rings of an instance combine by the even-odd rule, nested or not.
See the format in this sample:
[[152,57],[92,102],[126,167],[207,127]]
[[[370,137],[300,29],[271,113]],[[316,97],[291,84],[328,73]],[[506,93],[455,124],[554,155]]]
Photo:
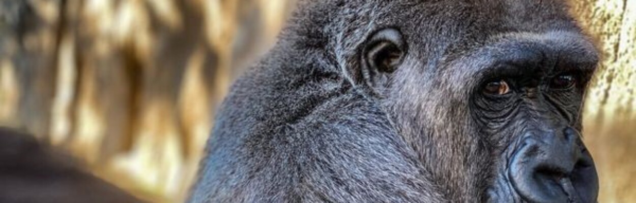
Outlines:
[[558,0],[300,1],[189,202],[596,202],[598,52]]

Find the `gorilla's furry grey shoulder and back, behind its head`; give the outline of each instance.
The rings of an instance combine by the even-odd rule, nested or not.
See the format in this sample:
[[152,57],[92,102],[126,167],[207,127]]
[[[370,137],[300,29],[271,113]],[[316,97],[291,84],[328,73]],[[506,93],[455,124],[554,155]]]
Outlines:
[[382,108],[342,74],[335,52],[352,50],[338,37],[359,31],[333,35],[344,22],[321,16],[345,17],[331,14],[343,2],[301,4],[219,108],[190,202],[441,201]]

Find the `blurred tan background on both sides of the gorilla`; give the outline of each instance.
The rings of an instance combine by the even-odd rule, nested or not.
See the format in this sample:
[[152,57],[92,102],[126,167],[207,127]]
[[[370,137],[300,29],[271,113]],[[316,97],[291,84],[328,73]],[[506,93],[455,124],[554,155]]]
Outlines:
[[[294,0],[0,0],[0,126],[151,202],[182,202],[214,111]],[[584,136],[599,202],[636,202],[636,1],[572,0],[603,62]]]

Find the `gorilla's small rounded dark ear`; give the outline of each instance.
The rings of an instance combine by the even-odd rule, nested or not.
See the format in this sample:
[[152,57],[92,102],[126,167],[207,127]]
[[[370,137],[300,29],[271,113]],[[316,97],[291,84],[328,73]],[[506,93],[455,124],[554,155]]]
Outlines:
[[377,93],[406,55],[402,34],[392,28],[382,29],[370,36],[363,48],[361,74],[364,82]]

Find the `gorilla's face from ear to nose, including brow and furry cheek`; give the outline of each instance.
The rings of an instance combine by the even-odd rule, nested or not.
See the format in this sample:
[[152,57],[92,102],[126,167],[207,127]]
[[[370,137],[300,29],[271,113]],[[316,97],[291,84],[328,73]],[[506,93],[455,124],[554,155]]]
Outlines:
[[[581,106],[597,65],[577,31],[451,44],[437,60],[397,29],[370,37],[369,86],[452,200],[595,202]],[[472,44],[471,44],[472,43]]]

